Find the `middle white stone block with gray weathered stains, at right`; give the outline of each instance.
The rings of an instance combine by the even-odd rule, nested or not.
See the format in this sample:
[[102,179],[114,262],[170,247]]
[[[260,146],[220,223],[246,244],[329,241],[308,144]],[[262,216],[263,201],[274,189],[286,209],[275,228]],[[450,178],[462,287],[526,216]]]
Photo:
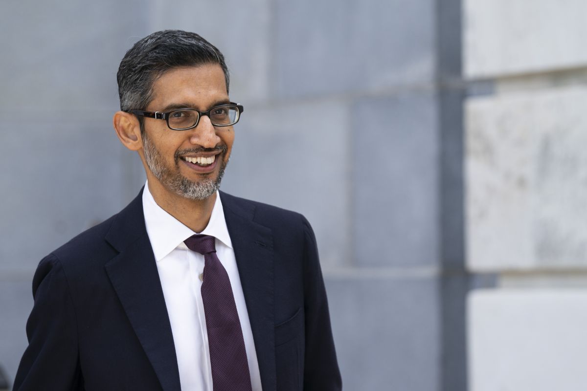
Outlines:
[[587,267],[587,88],[470,98],[467,263]]

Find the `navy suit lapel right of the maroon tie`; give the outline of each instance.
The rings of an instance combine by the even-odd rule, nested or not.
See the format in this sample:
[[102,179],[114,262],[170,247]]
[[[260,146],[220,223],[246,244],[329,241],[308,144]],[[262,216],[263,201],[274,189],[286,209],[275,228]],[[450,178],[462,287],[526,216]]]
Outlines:
[[264,391],[276,389],[274,253],[271,229],[253,221],[255,206],[220,193],[234,247]]

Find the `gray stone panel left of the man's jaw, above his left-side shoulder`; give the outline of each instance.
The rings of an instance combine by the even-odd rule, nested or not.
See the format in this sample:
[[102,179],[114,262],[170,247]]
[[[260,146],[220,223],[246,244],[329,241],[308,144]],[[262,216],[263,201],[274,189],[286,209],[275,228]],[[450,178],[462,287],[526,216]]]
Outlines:
[[131,152],[109,119],[5,124],[19,131],[0,132],[0,273],[33,270],[49,251],[126,205],[132,183]]

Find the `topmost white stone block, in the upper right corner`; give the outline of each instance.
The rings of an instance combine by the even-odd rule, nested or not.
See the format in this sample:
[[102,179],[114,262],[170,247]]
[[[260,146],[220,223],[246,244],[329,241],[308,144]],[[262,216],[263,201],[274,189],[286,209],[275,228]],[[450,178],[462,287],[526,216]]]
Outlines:
[[585,0],[464,0],[467,78],[587,64]]

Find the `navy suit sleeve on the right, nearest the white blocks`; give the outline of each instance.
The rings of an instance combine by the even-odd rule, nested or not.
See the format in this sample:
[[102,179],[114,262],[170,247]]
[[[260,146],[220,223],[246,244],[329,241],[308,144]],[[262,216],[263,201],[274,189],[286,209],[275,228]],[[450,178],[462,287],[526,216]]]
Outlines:
[[316,237],[308,220],[304,226],[304,310],[305,358],[304,391],[335,391],[342,389],[340,371],[330,328],[328,301],[318,261]]

